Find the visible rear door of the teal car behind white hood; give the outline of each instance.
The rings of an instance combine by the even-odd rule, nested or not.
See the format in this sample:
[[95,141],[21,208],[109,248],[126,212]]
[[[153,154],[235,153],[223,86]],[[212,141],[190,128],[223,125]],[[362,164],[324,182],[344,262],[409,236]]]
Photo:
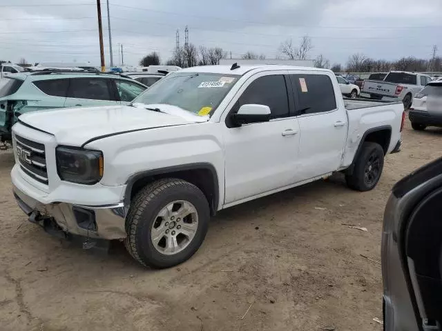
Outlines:
[[71,78],[65,107],[115,106],[119,104],[112,79],[81,77]]

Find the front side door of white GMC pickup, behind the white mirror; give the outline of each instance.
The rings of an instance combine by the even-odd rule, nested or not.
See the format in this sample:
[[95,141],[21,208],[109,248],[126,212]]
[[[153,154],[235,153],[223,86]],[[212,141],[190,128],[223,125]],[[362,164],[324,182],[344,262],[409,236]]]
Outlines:
[[292,116],[282,72],[261,72],[242,86],[229,114],[244,104],[269,106],[271,120],[224,128],[225,200],[236,203],[296,182],[299,145],[298,119]]

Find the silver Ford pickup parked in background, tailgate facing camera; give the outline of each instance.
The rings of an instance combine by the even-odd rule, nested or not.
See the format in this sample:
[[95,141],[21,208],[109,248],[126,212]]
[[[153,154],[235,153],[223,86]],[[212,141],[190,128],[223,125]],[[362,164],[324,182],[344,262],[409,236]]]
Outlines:
[[405,109],[412,106],[414,95],[422,90],[431,77],[416,72],[390,71],[383,81],[363,81],[363,93],[370,94],[372,99],[381,100],[383,97],[396,97],[403,102]]

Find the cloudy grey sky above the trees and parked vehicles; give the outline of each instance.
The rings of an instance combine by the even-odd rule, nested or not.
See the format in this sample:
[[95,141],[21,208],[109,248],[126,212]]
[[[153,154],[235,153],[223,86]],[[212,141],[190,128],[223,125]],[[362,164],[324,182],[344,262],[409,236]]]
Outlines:
[[[104,54],[110,63],[106,0],[102,1]],[[196,46],[281,57],[280,44],[309,36],[309,58],[330,63],[354,53],[374,59],[442,54],[442,0],[109,0],[113,61],[135,66],[149,52],[166,61],[184,29]],[[0,60],[89,62],[99,66],[95,0],[2,0]]]

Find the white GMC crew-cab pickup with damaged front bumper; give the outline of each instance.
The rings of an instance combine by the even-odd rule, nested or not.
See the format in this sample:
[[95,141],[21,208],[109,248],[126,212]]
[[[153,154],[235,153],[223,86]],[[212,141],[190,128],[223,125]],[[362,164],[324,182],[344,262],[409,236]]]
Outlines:
[[120,239],[166,268],[198,250],[224,208],[334,172],[371,190],[403,120],[402,103],[344,101],[330,70],[187,68],[131,106],[21,115],[13,190],[46,230]]

